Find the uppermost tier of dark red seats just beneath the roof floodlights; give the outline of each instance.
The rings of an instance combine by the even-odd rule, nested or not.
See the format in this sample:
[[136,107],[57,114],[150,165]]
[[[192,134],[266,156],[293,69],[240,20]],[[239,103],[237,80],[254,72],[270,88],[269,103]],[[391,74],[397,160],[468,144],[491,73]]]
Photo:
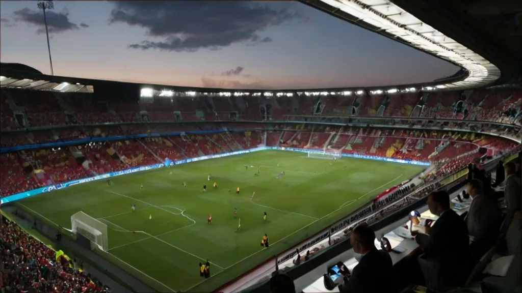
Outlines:
[[[281,120],[285,115],[437,117],[512,123],[522,90],[328,96],[193,96],[107,101],[88,93],[2,90],[1,129],[143,121]],[[419,108],[420,111],[413,111]],[[262,110],[263,109],[263,110]],[[263,111],[266,111],[263,116]],[[17,117],[15,119],[15,112]],[[175,114],[177,113],[177,114]],[[177,115],[177,116],[176,116]],[[520,115],[519,115],[520,116]]]

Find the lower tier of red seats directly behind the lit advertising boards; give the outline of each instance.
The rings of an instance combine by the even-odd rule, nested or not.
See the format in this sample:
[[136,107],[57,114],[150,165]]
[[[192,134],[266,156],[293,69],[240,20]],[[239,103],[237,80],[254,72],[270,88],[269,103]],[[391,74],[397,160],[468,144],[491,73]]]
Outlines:
[[[236,127],[236,126],[234,126]],[[187,130],[212,129],[189,126]],[[336,150],[403,160],[444,162],[442,173],[465,166],[479,147],[495,152],[516,148],[516,143],[495,137],[459,135],[451,131],[410,131],[370,128],[279,126],[267,133],[266,145],[316,150]],[[183,130],[183,129],[178,129]],[[114,137],[144,132],[172,132],[168,125],[104,126],[18,132],[2,135],[2,146],[70,140],[81,137]],[[222,132],[213,135],[178,135],[89,143],[63,149],[21,151],[0,155],[3,196],[49,184],[184,158],[253,148],[261,143],[260,131]],[[464,156],[468,155],[469,156]],[[454,158],[458,160],[453,160]],[[448,161],[449,162],[446,162]],[[34,172],[33,172],[34,171]]]

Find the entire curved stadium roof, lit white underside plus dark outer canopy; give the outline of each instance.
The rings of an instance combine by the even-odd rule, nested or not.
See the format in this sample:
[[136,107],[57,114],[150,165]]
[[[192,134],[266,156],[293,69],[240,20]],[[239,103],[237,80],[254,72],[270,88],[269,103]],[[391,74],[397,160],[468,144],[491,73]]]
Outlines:
[[[128,85],[156,92],[265,93],[309,92],[315,94],[347,92],[401,92],[414,90],[457,90],[501,84],[505,77],[519,74],[522,66],[522,25],[507,27],[516,20],[522,4],[499,0],[301,0],[355,25],[372,30],[423,52],[461,66],[455,75],[421,84],[335,89],[243,90],[176,87],[158,84],[46,76],[21,64],[2,64],[2,87],[56,91],[92,91],[94,87]],[[522,2],[521,2],[522,3]],[[498,4],[498,6],[497,6]],[[489,6],[488,6],[489,5]],[[426,11],[430,11],[427,13]],[[462,14],[461,11],[466,11]],[[415,16],[413,16],[415,15]],[[430,23],[427,25],[426,23]],[[511,23],[508,21],[508,23]],[[437,29],[435,29],[436,27]],[[478,32],[478,33],[477,33]],[[484,38],[486,36],[486,38]],[[466,46],[464,45],[466,44]],[[518,65],[513,62],[518,60]],[[516,68],[518,66],[518,68]],[[429,70],[426,69],[426,70]],[[518,75],[519,76],[519,75]],[[501,78],[502,77],[502,78]],[[496,83],[495,83],[496,81]],[[511,81],[513,82],[513,81]],[[76,87],[79,86],[79,87]]]

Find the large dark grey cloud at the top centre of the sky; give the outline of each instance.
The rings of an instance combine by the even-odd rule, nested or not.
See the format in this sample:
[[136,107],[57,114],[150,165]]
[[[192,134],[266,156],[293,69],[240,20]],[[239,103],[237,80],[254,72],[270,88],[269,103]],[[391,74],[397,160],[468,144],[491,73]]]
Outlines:
[[[129,45],[135,49],[195,52],[220,50],[235,43],[271,42],[262,36],[275,27],[300,18],[284,8],[247,1],[114,1],[109,23],[144,28],[152,38]],[[287,5],[288,6],[288,5]]]

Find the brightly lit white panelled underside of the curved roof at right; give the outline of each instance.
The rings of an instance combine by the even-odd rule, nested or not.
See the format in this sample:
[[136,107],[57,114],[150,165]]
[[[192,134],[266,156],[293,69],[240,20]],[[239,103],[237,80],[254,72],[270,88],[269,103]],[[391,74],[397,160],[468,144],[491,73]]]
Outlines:
[[396,38],[469,72],[466,78],[441,84],[441,88],[459,90],[484,87],[501,77],[500,69],[489,60],[388,0],[301,1],[376,33]]

